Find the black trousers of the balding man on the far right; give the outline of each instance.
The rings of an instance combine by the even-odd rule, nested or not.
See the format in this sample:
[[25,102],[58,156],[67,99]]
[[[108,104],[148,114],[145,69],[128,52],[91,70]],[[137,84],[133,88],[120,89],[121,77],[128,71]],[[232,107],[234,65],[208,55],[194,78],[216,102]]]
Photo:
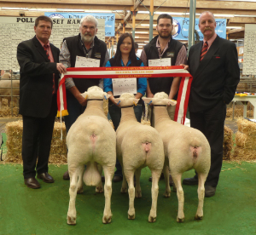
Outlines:
[[207,111],[189,112],[190,126],[199,129],[211,146],[211,168],[206,185],[216,187],[223,160],[224,120],[226,105],[223,100]]

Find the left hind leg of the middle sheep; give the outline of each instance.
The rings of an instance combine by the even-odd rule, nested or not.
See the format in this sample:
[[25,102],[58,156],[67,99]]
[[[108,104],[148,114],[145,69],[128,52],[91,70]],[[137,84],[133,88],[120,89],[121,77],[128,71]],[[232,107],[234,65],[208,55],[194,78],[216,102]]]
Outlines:
[[135,209],[134,209],[134,198],[135,198],[135,187],[133,182],[134,170],[125,170],[125,177],[128,181],[128,193],[129,193],[129,209],[128,209],[128,219],[135,219]]

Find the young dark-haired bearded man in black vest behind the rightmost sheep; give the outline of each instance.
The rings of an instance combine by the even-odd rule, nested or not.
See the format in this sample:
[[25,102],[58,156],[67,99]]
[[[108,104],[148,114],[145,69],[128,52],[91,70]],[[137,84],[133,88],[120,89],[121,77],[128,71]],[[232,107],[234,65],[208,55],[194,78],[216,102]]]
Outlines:
[[[143,60],[145,66],[179,66],[187,63],[186,47],[183,43],[172,38],[172,29],[172,16],[170,14],[160,14],[156,26],[159,35],[144,47],[141,54],[141,60]],[[148,77],[147,97],[154,97],[155,93],[163,91],[169,95],[169,99],[177,100],[180,79],[181,77]],[[175,107],[167,107],[172,120],[174,119]],[[151,125],[154,126],[154,115],[150,106],[148,106],[148,116]],[[163,174],[161,178],[163,178]],[[150,177],[149,181],[151,180]],[[170,185],[172,184],[170,175]]]

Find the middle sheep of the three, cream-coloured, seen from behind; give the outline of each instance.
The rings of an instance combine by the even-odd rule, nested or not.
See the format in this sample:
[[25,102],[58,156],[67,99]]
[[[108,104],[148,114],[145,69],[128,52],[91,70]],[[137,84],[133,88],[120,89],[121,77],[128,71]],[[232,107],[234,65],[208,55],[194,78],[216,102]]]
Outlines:
[[[127,192],[126,178],[130,198],[128,219],[134,220],[134,198],[142,198],[141,169],[148,166],[152,172],[152,206],[148,221],[154,222],[159,192],[158,182],[165,161],[164,146],[160,135],[154,128],[137,122],[133,105],[137,105],[138,100],[130,93],[124,93],[120,98],[115,99],[116,102],[120,101],[122,113],[119,127],[116,130],[117,158],[124,173],[121,192]],[[136,188],[134,188],[133,181],[134,173],[136,175]]]

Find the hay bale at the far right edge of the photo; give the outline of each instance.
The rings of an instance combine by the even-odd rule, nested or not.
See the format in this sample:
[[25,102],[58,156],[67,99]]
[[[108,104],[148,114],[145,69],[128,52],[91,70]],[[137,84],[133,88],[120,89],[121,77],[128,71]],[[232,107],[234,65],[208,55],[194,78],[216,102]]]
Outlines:
[[256,159],[256,123],[246,119],[237,120],[236,147],[233,157],[237,160]]

